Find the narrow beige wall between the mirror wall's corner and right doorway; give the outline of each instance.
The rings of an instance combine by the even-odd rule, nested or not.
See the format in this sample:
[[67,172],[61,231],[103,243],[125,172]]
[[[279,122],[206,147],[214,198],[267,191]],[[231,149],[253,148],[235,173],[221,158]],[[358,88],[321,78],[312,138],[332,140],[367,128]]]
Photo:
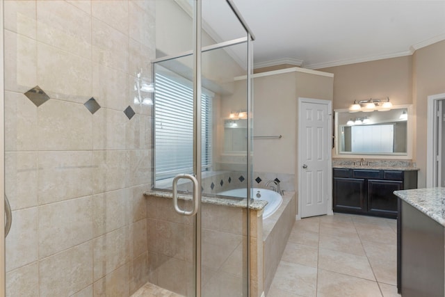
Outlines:
[[445,93],[445,41],[418,49],[413,55],[413,102],[416,110],[416,151],[419,188],[426,186],[427,98]]

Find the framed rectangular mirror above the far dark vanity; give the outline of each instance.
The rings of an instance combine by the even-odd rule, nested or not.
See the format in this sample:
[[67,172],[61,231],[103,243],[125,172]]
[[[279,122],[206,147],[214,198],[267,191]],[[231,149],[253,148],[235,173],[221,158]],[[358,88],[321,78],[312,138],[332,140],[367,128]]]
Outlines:
[[407,156],[410,152],[410,106],[390,111],[335,111],[337,154]]

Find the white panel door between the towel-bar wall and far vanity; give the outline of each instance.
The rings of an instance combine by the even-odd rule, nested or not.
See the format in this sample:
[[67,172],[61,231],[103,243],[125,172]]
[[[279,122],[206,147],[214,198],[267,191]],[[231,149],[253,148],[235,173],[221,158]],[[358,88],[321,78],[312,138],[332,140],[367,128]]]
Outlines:
[[[314,103],[316,102],[316,103]],[[330,102],[300,99],[299,213],[301,218],[327,214],[330,202]]]

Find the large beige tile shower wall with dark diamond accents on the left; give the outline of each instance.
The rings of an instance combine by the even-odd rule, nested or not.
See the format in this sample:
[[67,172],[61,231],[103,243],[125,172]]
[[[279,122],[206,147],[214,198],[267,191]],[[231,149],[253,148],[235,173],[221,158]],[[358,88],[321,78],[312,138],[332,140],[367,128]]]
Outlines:
[[[129,296],[149,279],[152,107],[133,85],[151,81],[154,9],[4,1],[7,296]],[[24,95],[35,86],[40,106]]]

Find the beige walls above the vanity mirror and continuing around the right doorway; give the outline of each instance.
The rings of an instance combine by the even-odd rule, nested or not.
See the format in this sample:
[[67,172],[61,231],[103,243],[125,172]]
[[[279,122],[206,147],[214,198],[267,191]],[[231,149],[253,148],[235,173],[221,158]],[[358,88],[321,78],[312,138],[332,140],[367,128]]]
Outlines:
[[413,104],[413,161],[419,188],[426,186],[427,97],[445,93],[445,41],[418,49],[412,56],[321,69],[334,74],[334,109],[355,99],[389,97],[394,105]]

